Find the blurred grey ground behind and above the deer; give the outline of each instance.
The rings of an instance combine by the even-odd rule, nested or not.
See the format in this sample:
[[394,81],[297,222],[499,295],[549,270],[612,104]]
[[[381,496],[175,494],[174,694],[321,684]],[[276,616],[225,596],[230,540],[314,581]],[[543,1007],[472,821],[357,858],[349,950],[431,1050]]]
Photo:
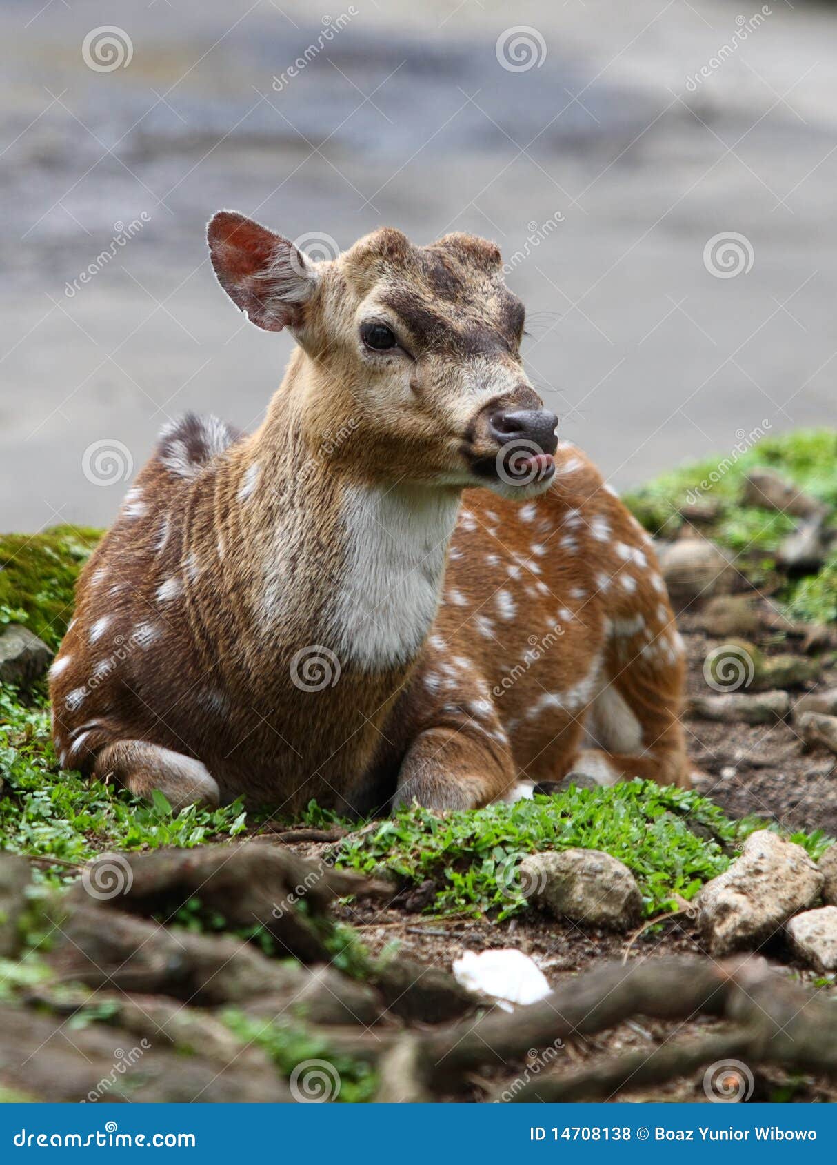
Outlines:
[[0,529],[107,522],[185,409],[259,422],[290,341],[216,285],[218,207],[493,238],[617,487],[835,423],[832,6],[2,0],[0,38]]

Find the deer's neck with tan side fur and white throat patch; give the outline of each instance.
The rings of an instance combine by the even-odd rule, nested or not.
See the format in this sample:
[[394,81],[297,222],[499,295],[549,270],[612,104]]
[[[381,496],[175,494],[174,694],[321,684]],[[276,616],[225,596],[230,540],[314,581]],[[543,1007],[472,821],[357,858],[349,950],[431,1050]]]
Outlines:
[[349,424],[323,432],[307,416],[295,361],[233,469],[239,495],[256,475],[262,486],[241,504],[259,546],[260,621],[286,651],[322,644],[344,670],[398,676],[436,616],[460,490],[371,481],[363,435]]

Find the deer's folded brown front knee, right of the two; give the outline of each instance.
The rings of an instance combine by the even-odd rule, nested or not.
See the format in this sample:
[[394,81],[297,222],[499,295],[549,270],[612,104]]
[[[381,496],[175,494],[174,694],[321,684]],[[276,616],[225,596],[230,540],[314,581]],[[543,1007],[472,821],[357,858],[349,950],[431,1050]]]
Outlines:
[[501,729],[425,728],[399,772],[394,807],[417,802],[427,809],[479,809],[514,784],[514,768]]

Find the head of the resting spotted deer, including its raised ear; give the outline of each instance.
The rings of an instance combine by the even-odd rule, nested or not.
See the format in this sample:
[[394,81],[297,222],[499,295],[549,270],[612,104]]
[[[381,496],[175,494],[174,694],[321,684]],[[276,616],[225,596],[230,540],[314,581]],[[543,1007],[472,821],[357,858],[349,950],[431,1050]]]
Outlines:
[[[366,483],[484,485],[542,493],[557,418],[523,372],[523,305],[498,248],[467,234],[427,247],[381,228],[315,263],[228,211],[209,225],[221,287],[268,331],[288,327],[308,358],[302,429]],[[304,359],[301,356],[300,359]]]

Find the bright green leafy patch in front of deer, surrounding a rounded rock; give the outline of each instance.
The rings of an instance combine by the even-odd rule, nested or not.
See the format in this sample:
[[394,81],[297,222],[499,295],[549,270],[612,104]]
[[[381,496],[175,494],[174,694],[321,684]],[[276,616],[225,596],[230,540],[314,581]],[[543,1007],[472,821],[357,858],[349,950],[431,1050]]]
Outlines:
[[[516,874],[526,854],[602,849],[633,871],[653,917],[677,909],[677,898],[691,899],[727,868],[727,850],[768,827],[755,818],[732,820],[690,790],[632,781],[444,817],[417,806],[401,810],[340,842],[337,864],[364,874],[386,867],[415,885],[431,880],[438,887],[434,912],[497,911],[506,918],[528,908]],[[814,856],[829,843],[821,833],[793,840]]]

